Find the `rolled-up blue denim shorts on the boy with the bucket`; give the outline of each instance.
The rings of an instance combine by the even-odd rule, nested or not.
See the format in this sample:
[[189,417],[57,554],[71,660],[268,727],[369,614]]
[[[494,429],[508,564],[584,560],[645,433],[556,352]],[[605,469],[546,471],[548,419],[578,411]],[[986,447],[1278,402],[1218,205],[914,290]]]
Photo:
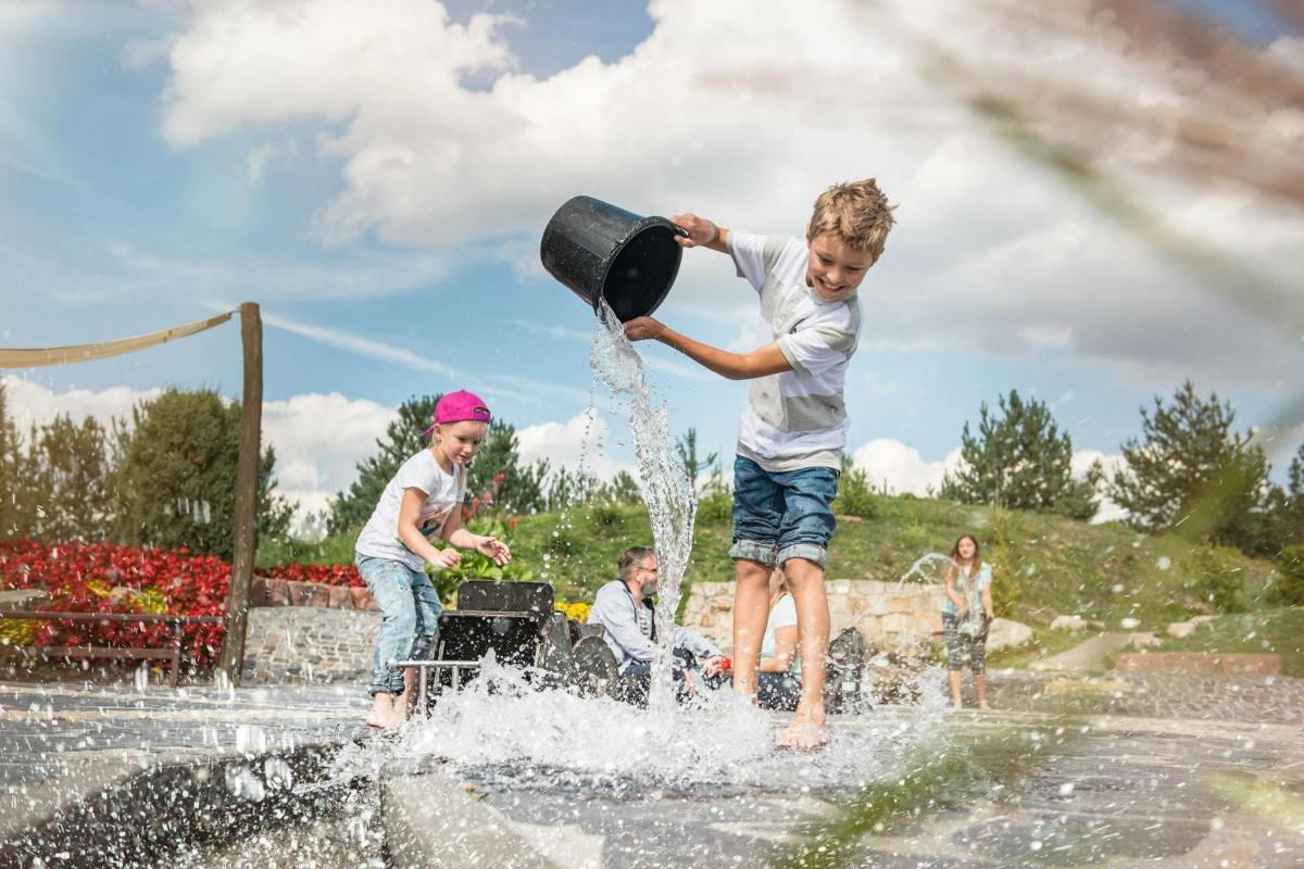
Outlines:
[[730,558],[769,567],[803,558],[828,564],[828,541],[836,522],[829,504],[838,472],[801,468],[772,473],[751,459],[734,459],[734,530]]

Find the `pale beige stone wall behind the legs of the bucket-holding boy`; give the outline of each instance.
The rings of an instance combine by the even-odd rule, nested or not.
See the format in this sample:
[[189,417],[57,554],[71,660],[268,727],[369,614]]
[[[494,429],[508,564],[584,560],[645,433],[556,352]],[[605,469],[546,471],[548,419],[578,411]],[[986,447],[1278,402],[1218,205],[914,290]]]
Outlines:
[[[940,585],[829,580],[825,588],[833,636],[854,627],[879,649],[900,649],[941,632]],[[733,584],[695,584],[683,625],[721,648],[733,646]]]

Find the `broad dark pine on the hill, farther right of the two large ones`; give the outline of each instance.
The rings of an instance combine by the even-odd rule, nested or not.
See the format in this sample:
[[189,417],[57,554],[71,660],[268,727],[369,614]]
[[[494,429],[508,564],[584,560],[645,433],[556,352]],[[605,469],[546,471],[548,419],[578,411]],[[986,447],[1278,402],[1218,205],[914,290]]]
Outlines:
[[1164,404],[1141,408],[1142,438],[1123,443],[1125,466],[1110,482],[1110,498],[1145,532],[1178,530],[1244,551],[1265,545],[1270,495],[1267,460],[1248,433],[1234,431],[1231,404],[1196,395],[1187,380]]

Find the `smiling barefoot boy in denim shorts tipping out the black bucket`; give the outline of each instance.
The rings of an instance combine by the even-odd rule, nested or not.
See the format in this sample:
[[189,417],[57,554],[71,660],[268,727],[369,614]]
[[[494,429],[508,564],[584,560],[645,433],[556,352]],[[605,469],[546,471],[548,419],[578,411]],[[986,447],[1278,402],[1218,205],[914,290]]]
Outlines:
[[781,748],[828,741],[824,658],[828,597],[824,567],[835,520],[829,504],[846,447],[842,399],[861,335],[855,292],[883,254],[892,206],[872,178],[837,184],[815,201],[806,238],[725,229],[694,214],[672,220],[685,248],[728,254],[759,293],[756,349],[730,353],[651,317],[625,324],[630,340],[666,344],[732,380],[752,380],[734,460],[734,691],[755,694],[760,642],[777,567],[797,605],[802,696]]

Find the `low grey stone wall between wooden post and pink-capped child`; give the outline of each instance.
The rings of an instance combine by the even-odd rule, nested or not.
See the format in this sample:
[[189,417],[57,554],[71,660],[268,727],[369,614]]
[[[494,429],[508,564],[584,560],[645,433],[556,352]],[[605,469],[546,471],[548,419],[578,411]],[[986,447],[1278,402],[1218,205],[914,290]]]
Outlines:
[[312,606],[254,607],[245,634],[244,680],[355,683],[372,672],[381,614]]

